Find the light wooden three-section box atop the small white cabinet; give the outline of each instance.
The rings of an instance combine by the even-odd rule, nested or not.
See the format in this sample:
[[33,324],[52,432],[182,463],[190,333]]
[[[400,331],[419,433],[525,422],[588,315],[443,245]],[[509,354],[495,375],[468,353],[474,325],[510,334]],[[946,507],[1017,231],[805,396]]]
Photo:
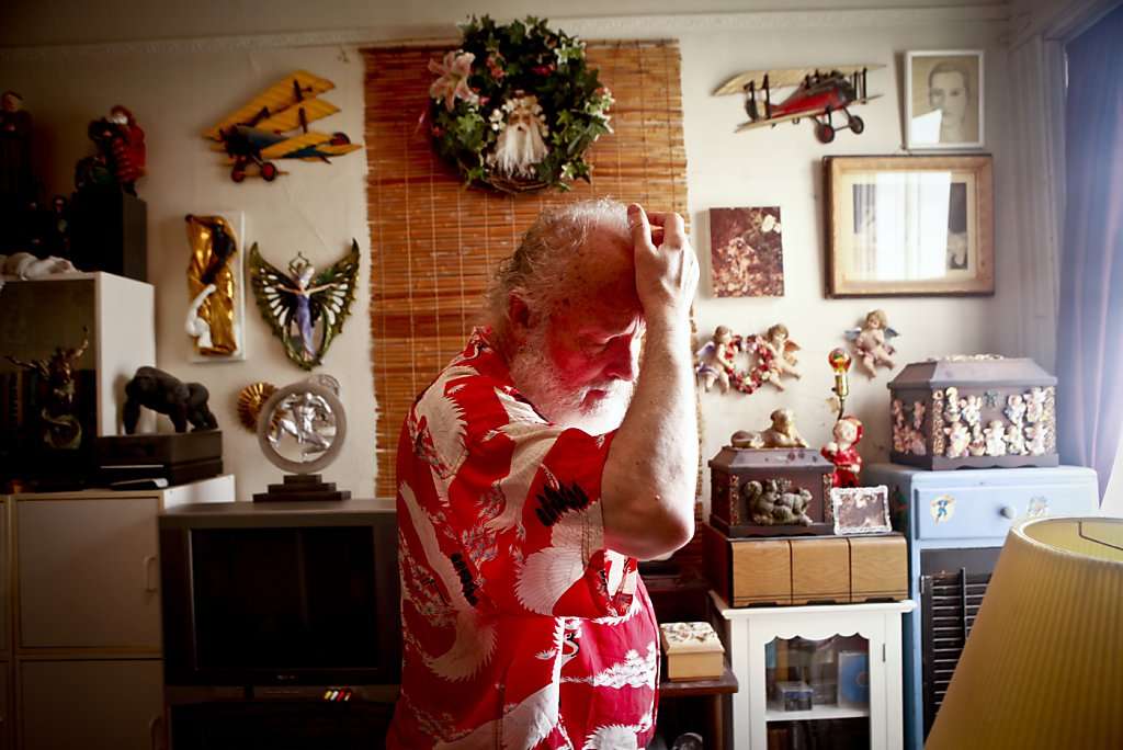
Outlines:
[[900,533],[729,538],[709,524],[702,533],[706,574],[731,606],[909,598],[909,560]]

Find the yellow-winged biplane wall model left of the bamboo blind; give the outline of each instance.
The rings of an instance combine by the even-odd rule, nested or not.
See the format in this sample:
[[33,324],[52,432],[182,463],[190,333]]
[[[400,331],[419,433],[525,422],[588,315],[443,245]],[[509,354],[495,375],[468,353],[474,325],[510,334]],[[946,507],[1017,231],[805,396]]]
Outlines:
[[[220,120],[203,134],[217,141],[216,150],[226,152],[234,163],[230,179],[241,182],[246,167],[257,166],[258,174],[273,182],[281,174],[270,159],[300,158],[305,162],[328,162],[329,156],[343,156],[362,148],[345,132],[316,132],[309,122],[339,111],[335,104],[317,97],[336,84],[305,71],[296,71],[255,97],[248,104]],[[293,136],[283,135],[300,129]]]

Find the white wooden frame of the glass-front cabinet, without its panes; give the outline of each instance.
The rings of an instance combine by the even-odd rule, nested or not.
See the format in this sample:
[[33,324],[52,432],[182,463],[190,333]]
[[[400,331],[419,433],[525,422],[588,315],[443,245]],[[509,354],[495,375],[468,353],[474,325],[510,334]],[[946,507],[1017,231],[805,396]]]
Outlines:
[[[876,604],[731,607],[710,592],[724,629],[725,651],[740,689],[727,706],[727,735],[737,750],[767,750],[768,724],[801,720],[869,717],[870,748],[902,747],[901,619],[911,601]],[[860,635],[868,643],[869,705],[821,705],[811,711],[768,707],[766,646],[776,640]]]

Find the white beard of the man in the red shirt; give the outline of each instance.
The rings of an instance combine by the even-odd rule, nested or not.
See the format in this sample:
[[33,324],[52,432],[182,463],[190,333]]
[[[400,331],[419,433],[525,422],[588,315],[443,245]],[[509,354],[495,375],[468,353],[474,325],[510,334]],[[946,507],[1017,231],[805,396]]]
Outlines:
[[[614,378],[573,390],[558,376],[557,366],[547,354],[546,333],[541,328],[531,331],[526,345],[511,358],[511,379],[550,422],[590,435],[604,435],[620,427],[636,390],[634,382]],[[584,405],[585,397],[594,390],[604,391],[605,395]]]

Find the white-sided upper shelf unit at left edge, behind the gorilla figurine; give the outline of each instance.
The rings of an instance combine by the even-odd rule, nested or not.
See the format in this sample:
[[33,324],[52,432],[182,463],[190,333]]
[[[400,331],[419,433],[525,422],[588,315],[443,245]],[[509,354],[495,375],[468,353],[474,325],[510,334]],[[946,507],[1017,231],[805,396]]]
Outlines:
[[[107,274],[55,274],[3,280],[0,287],[0,355],[49,357],[55,347],[76,347],[86,327],[90,347],[79,369],[98,374],[98,435],[122,435],[125,384],[137,367],[156,364],[155,294],[152,284]],[[0,357],[0,371],[18,369]],[[140,432],[155,429],[143,411]]]

